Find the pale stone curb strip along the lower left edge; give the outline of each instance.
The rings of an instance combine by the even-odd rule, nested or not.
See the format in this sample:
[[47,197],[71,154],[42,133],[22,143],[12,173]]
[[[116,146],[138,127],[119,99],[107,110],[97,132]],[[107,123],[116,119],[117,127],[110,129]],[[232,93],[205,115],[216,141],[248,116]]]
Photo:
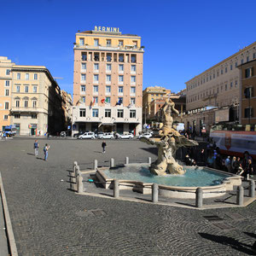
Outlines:
[[16,242],[15,242],[15,235],[14,235],[13,227],[9,217],[9,209],[7,206],[7,201],[6,201],[6,197],[3,189],[3,180],[2,180],[1,172],[0,172],[0,192],[2,195],[2,201],[3,201],[3,218],[5,218],[7,236],[9,239],[10,253],[12,256],[18,256],[18,251],[16,247]]

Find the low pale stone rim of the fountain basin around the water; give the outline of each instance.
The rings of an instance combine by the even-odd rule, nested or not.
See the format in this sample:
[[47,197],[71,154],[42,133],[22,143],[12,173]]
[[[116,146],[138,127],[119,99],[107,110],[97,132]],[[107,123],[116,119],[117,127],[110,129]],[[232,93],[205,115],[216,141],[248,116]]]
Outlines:
[[[149,166],[148,164],[129,164],[129,166]],[[123,166],[123,167],[125,167]],[[121,166],[119,166],[121,168]],[[111,171],[116,168],[102,167],[96,170],[96,177],[102,183],[105,189],[113,188],[113,177],[108,177],[106,171]],[[227,191],[233,190],[234,186],[241,185],[241,177],[232,173],[222,172],[209,167],[204,167],[204,170],[209,172],[219,173],[221,176],[226,176],[222,183],[211,186],[200,186],[203,189],[203,198],[212,198],[224,195]],[[195,171],[196,172],[196,171]],[[137,180],[128,180],[119,178],[119,189],[130,189],[135,192],[143,194],[151,194],[151,187],[153,183],[145,183]],[[159,184],[159,195],[163,195],[170,198],[185,198],[195,199],[195,190],[198,187],[182,187],[182,186],[170,186],[165,184]]]

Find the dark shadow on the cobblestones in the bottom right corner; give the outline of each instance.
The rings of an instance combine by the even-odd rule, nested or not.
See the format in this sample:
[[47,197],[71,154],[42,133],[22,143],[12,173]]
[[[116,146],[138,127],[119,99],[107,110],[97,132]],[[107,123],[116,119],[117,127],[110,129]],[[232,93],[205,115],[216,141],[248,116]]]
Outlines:
[[[233,249],[236,249],[237,251],[241,253],[247,253],[248,255],[255,255],[255,252],[251,250],[252,246],[249,246],[245,243],[242,243],[240,241],[237,241],[236,239],[228,236],[216,236],[216,235],[211,235],[207,233],[198,233],[202,238],[215,241],[218,243],[221,243],[225,246],[230,246]],[[249,247],[249,248],[247,248]]]

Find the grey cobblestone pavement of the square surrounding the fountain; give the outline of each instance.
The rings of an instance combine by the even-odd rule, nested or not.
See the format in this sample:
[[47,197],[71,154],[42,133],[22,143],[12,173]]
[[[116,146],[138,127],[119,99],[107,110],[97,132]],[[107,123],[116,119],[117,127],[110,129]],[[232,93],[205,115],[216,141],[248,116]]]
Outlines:
[[[198,211],[77,195],[67,183],[74,160],[155,157],[138,141],[39,140],[0,143],[0,166],[19,255],[255,255],[256,203]],[[49,143],[49,160],[43,144]],[[61,181],[64,180],[64,181]],[[212,217],[216,216],[216,217]]]

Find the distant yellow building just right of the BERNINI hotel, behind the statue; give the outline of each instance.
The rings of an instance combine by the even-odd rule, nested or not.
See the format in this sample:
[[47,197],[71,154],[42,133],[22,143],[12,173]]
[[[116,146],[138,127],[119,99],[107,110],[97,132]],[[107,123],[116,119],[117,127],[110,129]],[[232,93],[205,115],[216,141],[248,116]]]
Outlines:
[[[166,98],[166,96],[175,95],[171,90],[160,86],[151,86],[143,90],[143,116],[148,119],[151,114],[151,102]],[[146,121],[145,121],[146,122]]]

